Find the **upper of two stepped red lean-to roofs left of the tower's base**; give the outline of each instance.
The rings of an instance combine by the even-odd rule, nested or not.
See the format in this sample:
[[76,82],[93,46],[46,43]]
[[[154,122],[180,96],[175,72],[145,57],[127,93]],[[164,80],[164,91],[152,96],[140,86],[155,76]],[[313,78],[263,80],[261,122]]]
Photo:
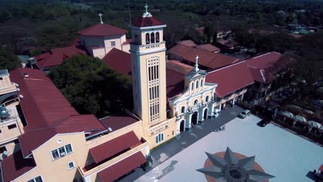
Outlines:
[[[90,154],[92,155],[95,163],[99,163],[110,157],[123,152],[124,150],[133,148],[134,146],[141,144],[136,134],[131,131],[115,139],[112,139],[106,143],[98,145],[95,148],[90,149]],[[107,150],[108,149],[108,150]]]

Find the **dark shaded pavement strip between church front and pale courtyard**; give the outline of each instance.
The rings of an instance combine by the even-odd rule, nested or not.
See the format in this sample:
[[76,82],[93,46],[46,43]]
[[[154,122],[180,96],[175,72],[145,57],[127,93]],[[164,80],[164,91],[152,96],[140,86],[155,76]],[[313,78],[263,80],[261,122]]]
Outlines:
[[[222,110],[217,118],[206,119],[204,121],[204,125],[197,125],[192,128],[191,132],[182,132],[180,134],[179,139],[175,139],[170,143],[166,143],[161,147],[157,148],[153,152],[150,152],[151,156],[153,157],[153,165],[151,167],[146,168],[146,172],[152,170],[157,165],[163,163],[171,156],[174,156],[178,152],[184,150],[189,145],[192,145],[199,139],[202,139],[204,136],[208,135],[209,133],[213,132],[216,128],[228,123],[235,117],[237,114],[242,112],[242,108],[239,108],[237,105],[234,108],[229,108],[227,110]],[[128,182],[128,181],[135,181],[140,176],[146,174],[144,170],[138,168],[135,172],[129,174],[128,176],[121,179],[121,182]]]

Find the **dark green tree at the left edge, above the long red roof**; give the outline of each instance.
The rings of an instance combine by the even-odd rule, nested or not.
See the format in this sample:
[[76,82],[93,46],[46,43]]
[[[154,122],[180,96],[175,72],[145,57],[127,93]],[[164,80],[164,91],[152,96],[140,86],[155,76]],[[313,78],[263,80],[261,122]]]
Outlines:
[[21,67],[21,63],[16,55],[9,48],[0,48],[0,70],[14,70]]

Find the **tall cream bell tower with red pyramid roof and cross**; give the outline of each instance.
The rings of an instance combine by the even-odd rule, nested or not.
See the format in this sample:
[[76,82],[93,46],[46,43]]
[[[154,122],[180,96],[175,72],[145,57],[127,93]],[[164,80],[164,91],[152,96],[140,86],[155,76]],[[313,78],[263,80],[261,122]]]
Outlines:
[[147,10],[131,23],[130,43],[135,114],[144,128],[166,120],[166,27]]

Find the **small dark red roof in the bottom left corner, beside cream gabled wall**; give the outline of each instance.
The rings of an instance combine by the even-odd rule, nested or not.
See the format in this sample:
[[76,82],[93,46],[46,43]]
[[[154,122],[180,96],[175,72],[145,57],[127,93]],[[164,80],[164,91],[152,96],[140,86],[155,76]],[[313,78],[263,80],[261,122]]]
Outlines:
[[1,161],[3,181],[12,181],[36,167],[33,158],[23,159],[21,151],[7,156]]

